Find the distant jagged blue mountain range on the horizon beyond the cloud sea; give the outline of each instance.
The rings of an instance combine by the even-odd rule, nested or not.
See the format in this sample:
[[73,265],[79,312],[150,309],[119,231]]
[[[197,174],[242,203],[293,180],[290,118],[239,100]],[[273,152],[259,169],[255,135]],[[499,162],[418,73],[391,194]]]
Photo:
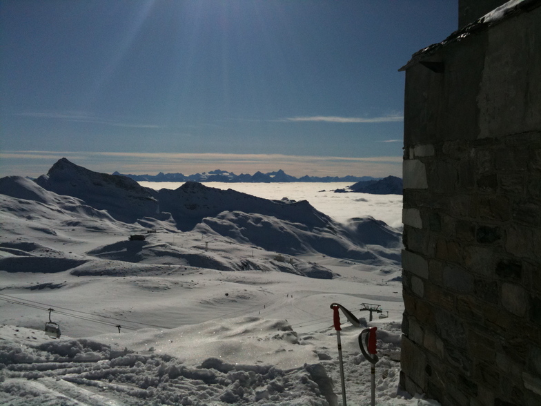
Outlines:
[[119,172],[112,173],[113,175],[121,175],[129,177],[132,180],[148,181],[148,182],[231,182],[231,183],[271,183],[271,182],[366,182],[371,180],[377,180],[371,176],[352,176],[347,175],[344,177],[339,176],[308,176],[295,177],[288,175],[282,169],[275,172],[262,173],[257,171],[253,175],[248,173],[241,173],[235,175],[233,172],[222,171],[216,169],[215,171],[195,173],[193,175],[183,175],[182,173],[163,173],[160,172],[157,175],[132,175]]

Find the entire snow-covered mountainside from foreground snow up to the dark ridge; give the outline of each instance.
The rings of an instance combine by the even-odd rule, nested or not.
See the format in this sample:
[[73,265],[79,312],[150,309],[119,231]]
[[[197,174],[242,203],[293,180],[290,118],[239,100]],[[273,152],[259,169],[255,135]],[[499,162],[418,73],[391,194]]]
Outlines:
[[[367,317],[360,303],[375,302],[388,312],[368,322],[380,328],[379,404],[436,405],[397,389],[404,305],[393,229],[197,184],[137,204],[147,189],[63,164],[68,184],[51,171],[45,186],[76,197],[0,180],[0,403],[336,405],[329,306]],[[179,230],[186,219],[195,226]],[[128,241],[135,233],[146,240]],[[43,333],[48,309],[59,340]],[[349,405],[368,402],[359,333],[344,324]]]

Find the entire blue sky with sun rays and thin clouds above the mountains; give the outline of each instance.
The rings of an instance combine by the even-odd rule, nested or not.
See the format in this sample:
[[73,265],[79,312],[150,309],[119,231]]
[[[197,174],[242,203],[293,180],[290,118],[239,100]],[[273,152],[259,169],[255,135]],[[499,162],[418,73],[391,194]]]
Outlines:
[[457,0],[2,0],[0,176],[402,175],[404,72]]

